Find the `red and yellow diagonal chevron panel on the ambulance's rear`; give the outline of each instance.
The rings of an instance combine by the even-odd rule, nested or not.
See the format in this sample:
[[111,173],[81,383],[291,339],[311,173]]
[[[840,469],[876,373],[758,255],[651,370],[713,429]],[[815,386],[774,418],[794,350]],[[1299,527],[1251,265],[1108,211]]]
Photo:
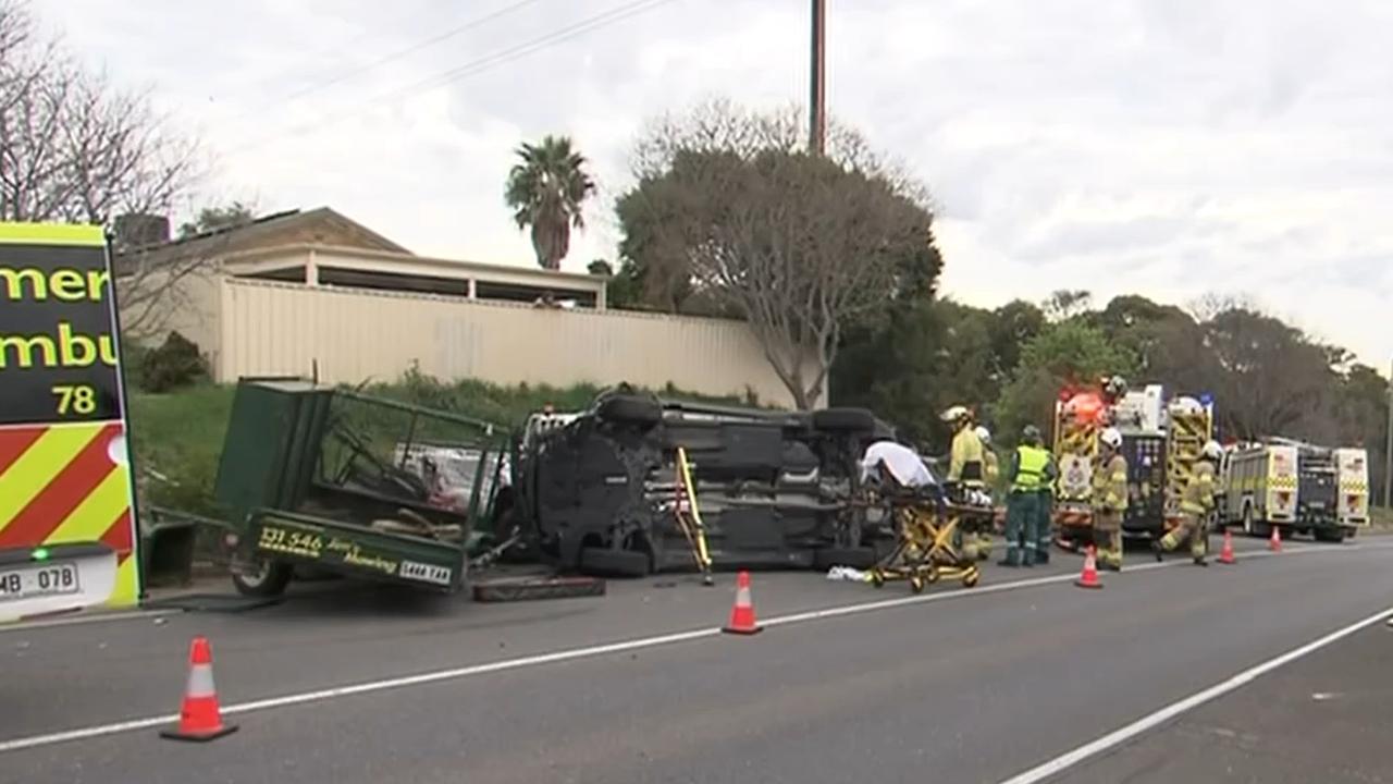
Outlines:
[[110,604],[137,601],[135,518],[121,423],[0,427],[0,550],[100,541]]

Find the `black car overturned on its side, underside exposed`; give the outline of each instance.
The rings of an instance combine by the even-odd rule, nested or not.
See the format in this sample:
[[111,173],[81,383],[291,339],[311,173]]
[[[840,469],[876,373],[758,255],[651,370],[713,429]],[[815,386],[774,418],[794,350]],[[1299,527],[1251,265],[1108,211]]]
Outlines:
[[893,437],[864,409],[766,412],[621,389],[556,427],[529,428],[510,516],[529,550],[564,571],[691,568],[677,518],[683,449],[715,566],[869,566],[889,532],[853,502],[859,459]]

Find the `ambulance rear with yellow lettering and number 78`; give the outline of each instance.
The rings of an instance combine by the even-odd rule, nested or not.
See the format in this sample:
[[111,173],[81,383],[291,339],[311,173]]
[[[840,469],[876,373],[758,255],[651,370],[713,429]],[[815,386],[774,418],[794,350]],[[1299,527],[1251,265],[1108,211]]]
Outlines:
[[0,622],[139,600],[111,289],[100,226],[0,223]]

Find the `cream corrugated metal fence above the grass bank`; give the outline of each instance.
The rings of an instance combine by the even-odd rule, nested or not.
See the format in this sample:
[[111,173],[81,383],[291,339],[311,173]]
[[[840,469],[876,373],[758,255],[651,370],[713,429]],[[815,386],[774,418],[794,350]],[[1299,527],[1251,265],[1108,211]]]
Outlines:
[[[212,308],[209,308],[212,310]],[[791,406],[749,328],[736,321],[465,301],[223,278],[217,378],[389,381],[412,361],[437,378],[631,384]]]

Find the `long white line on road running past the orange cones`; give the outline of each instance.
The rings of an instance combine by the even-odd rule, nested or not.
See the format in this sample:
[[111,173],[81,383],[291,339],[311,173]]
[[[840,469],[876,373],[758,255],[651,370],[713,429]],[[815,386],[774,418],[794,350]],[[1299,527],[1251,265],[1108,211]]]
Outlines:
[[[1386,547],[1393,547],[1389,544]],[[1329,547],[1297,547],[1287,550],[1282,555],[1300,555],[1302,552],[1351,552],[1360,547],[1351,547],[1346,550],[1334,550]],[[1362,547],[1364,550],[1379,550],[1382,547]],[[1273,552],[1251,552],[1245,554],[1250,558],[1276,555]],[[1166,561],[1163,564],[1141,564],[1130,565],[1124,575],[1133,572],[1149,572],[1153,569],[1163,569],[1169,566],[1180,566],[1185,564],[1183,559]],[[918,596],[905,596],[900,598],[886,598],[882,601],[865,601],[858,604],[846,604],[841,607],[829,607],[825,610],[812,610],[808,612],[794,612],[788,615],[777,615],[775,618],[766,618],[761,621],[763,626],[783,626],[788,624],[801,624],[808,621],[822,621],[827,618],[837,618],[844,615],[857,615],[862,612],[875,612],[879,610],[892,610],[896,607],[908,607],[912,604],[928,604],[932,601],[949,601],[953,598],[965,598],[972,596],[983,596],[990,593],[1003,593],[1009,590],[1020,590],[1027,587],[1043,586],[1050,583],[1063,583],[1075,579],[1074,573],[1063,575],[1049,575],[1042,578],[1029,578],[1024,580],[1014,580],[1009,583],[993,583],[986,586],[978,586],[972,589],[956,589],[942,593],[925,593]],[[457,667],[450,670],[436,670],[430,672],[421,672],[417,675],[403,675],[397,678],[386,678],[380,681],[368,681],[362,684],[351,684],[347,686],[333,686],[327,689],[318,689],[313,692],[301,692],[295,695],[284,695],[279,698],[267,698],[262,700],[252,700],[244,703],[234,703],[223,706],[223,713],[228,716],[235,716],[240,713],[251,713],[255,710],[272,710],[277,707],[288,707],[295,704],[305,704],[312,702],[332,700],[337,698],[345,698],[352,695],[364,695],[371,692],[382,692],[387,689],[400,689],[405,686],[419,686],[425,684],[436,684],[440,681],[456,681],[460,678],[469,678],[474,675],[485,675],[489,672],[503,672],[508,670],[521,670],[525,667],[538,667],[543,664],[556,664],[560,661],[574,661],[579,658],[593,658],[598,656],[607,656],[612,653],[624,653],[631,650],[641,650],[648,647],[657,647],[664,644],[684,643],[691,640],[698,640],[703,638],[715,638],[722,633],[719,626],[709,626],[705,629],[691,629],[687,632],[674,632],[667,635],[637,638],[631,640],[621,640],[614,643],[605,643],[588,647],[563,649],[552,653],[542,653],[536,656],[524,656],[520,658],[507,658],[501,661],[490,661],[486,664],[474,664],[469,667]],[[82,741],[88,738],[99,738],[102,735],[116,735],[120,732],[132,732],[137,730],[149,730],[152,727],[159,727],[162,724],[169,724],[178,720],[178,714],[164,714],[164,716],[149,716],[145,718],[132,718],[128,721],[117,721],[111,724],[99,724],[93,727],[82,727],[78,730],[65,730],[63,732],[50,732],[46,735],[31,735],[28,738],[14,738],[11,741],[0,741],[0,753],[15,752],[21,749],[32,749],[36,746],[50,746],[54,744],[64,744],[68,741]]]

